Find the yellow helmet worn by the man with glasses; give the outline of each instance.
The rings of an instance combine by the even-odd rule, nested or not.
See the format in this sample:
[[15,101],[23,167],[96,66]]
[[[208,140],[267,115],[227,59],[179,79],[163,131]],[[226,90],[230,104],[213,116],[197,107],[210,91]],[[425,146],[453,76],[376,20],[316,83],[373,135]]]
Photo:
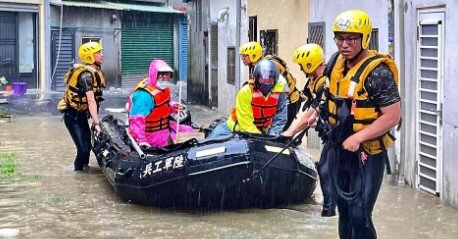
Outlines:
[[334,33],[349,32],[362,34],[362,47],[366,49],[371,39],[372,23],[366,12],[349,10],[342,12],[336,17],[334,24],[332,24],[332,31]]

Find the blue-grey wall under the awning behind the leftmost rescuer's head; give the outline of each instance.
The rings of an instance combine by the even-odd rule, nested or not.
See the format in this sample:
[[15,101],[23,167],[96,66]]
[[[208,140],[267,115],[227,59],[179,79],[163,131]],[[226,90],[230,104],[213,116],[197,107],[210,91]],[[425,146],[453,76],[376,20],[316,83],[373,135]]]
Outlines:
[[[110,16],[116,14],[121,19],[120,12],[108,9],[91,9],[64,7],[62,29],[75,32],[75,62],[78,58],[78,48],[82,37],[101,37],[104,63],[102,70],[107,78],[107,86],[119,87],[120,82],[120,52],[121,49],[121,20],[112,23]],[[60,26],[60,7],[53,7],[51,26]]]

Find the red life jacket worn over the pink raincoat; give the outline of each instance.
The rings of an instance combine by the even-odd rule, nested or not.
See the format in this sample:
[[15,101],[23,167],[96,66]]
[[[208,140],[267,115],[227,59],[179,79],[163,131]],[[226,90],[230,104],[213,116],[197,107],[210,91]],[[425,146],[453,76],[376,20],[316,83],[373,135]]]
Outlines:
[[143,88],[151,94],[155,107],[145,119],[145,132],[153,133],[163,129],[169,129],[170,118],[170,88],[159,89],[153,86]]

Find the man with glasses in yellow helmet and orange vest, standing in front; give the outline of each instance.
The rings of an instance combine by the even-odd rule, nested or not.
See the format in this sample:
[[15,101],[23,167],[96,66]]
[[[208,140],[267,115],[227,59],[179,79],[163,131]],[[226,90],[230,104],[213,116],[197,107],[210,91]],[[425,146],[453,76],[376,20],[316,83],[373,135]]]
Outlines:
[[327,105],[320,117],[332,128],[329,150],[322,154],[332,166],[339,237],[377,238],[372,211],[394,141],[390,130],[400,121],[398,70],[388,56],[367,49],[372,32],[367,13],[345,11],[332,30],[338,52],[326,66]]

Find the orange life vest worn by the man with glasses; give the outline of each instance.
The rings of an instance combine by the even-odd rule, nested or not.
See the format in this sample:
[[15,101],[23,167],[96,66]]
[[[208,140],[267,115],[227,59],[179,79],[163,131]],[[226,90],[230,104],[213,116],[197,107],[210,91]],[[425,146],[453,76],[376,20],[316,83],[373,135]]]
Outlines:
[[[355,102],[354,132],[364,129],[379,117],[380,109],[369,98],[364,88],[364,83],[369,74],[382,63],[390,68],[397,85],[399,83],[398,70],[394,61],[388,56],[379,55],[375,51],[370,51],[369,56],[351,68],[345,76],[343,75],[345,61],[341,55],[338,56],[330,74],[329,92],[327,92],[326,97],[328,99],[328,120],[332,126],[335,126],[337,123],[338,107],[336,99],[339,98],[344,99],[344,101],[349,104],[349,107],[352,100]],[[387,132],[376,139],[363,142],[363,146],[369,154],[377,154],[390,147],[393,140],[394,137]]]

